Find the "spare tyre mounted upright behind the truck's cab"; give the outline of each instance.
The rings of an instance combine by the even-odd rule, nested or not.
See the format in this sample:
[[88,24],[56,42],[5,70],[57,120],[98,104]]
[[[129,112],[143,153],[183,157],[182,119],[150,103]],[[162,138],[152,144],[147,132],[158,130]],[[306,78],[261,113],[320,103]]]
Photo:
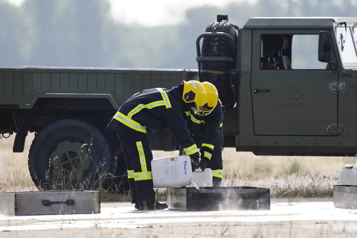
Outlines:
[[[206,27],[206,32],[212,31],[231,35],[235,42],[235,49],[230,49],[225,37],[204,37],[201,56],[234,57],[233,51],[236,51],[238,42],[235,27],[226,21],[214,22]],[[235,67],[230,61],[201,61],[201,81],[208,81],[215,85],[222,105],[228,108],[235,104],[236,80],[230,74]]]

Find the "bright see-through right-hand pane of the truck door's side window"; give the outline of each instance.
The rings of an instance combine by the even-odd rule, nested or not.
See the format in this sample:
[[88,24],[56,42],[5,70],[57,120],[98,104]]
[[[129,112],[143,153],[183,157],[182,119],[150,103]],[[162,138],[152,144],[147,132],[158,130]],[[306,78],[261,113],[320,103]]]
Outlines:
[[326,63],[317,58],[318,35],[293,35],[291,44],[293,69],[326,69]]

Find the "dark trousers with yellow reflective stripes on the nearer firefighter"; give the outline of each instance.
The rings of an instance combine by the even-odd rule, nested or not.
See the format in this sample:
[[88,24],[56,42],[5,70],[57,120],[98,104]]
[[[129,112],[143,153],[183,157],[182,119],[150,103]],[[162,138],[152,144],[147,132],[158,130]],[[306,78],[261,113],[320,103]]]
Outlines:
[[140,206],[154,204],[156,199],[152,184],[149,138],[146,135],[117,134],[128,170],[131,203],[138,203]]

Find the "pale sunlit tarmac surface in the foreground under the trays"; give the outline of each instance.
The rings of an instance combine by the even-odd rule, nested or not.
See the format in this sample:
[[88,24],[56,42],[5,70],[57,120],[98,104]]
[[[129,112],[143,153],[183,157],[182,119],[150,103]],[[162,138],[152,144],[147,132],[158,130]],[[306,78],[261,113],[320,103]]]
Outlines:
[[357,237],[357,210],[335,207],[332,197],[271,199],[264,211],[138,211],[114,202],[98,214],[0,215],[2,237]]

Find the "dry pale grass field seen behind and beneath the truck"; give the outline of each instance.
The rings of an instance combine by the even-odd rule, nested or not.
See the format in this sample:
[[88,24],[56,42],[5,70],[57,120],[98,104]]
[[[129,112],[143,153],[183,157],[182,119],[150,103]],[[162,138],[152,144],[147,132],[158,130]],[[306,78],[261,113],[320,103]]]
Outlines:
[[[25,150],[12,152],[15,136],[0,139],[0,192],[36,191],[27,165],[32,134]],[[176,156],[178,151],[154,151],[154,158]],[[270,188],[273,197],[332,196],[341,167],[356,157],[255,156],[251,152],[223,150],[222,186]]]

